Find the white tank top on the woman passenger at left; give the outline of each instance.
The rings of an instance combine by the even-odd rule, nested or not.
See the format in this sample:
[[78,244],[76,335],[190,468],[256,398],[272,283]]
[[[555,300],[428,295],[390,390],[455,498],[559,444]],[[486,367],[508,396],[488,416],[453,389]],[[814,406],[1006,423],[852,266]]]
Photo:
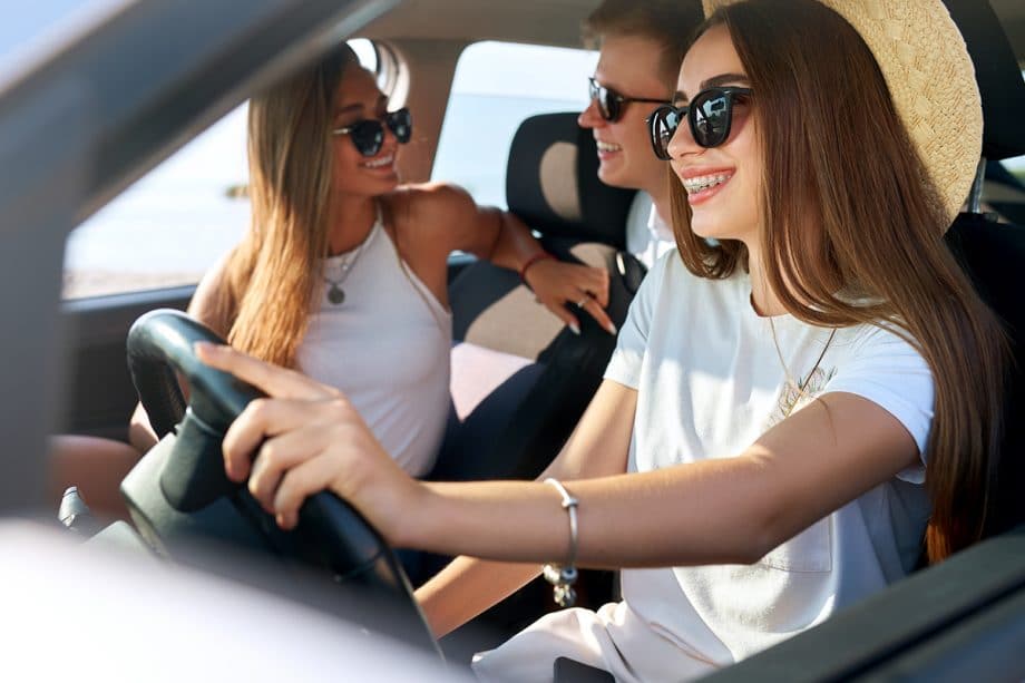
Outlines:
[[326,258],[324,269],[344,301],[332,303],[332,285],[323,281],[299,368],[341,389],[384,450],[409,474],[423,476],[435,465],[449,411],[451,313],[400,262],[380,212],[363,244]]

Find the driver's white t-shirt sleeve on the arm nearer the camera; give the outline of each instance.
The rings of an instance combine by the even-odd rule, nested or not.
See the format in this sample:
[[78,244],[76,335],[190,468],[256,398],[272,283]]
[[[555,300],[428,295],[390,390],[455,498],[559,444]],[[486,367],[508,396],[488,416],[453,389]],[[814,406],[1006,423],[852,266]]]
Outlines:
[[925,481],[934,383],[928,363],[911,344],[889,330],[872,328],[826,384],[823,393],[832,391],[866,398],[897,418],[918,445],[920,460],[898,477],[910,484]]

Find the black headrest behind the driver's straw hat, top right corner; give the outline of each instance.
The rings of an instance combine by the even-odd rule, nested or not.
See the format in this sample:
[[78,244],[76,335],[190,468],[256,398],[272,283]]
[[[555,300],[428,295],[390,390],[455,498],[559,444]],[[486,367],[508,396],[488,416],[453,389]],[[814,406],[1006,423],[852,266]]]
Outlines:
[[1025,154],[1025,80],[999,20],[986,0],[944,0],[975,64],[983,96],[983,156]]

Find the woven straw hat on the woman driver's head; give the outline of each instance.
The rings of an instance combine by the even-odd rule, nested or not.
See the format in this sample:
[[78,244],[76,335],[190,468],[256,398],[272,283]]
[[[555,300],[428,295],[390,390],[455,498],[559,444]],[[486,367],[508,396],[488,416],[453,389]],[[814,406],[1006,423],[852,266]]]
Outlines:
[[[702,0],[705,17],[736,0]],[[965,39],[940,0],[818,0],[865,40],[951,221],[983,149],[983,105]]]

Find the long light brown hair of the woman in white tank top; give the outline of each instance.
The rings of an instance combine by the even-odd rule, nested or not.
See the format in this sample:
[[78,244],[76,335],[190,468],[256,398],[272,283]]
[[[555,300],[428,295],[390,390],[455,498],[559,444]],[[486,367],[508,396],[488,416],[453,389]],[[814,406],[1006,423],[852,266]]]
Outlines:
[[253,218],[225,264],[214,318],[234,347],[279,365],[295,364],[328,253],[332,108],[352,65],[343,45],[250,101]]

